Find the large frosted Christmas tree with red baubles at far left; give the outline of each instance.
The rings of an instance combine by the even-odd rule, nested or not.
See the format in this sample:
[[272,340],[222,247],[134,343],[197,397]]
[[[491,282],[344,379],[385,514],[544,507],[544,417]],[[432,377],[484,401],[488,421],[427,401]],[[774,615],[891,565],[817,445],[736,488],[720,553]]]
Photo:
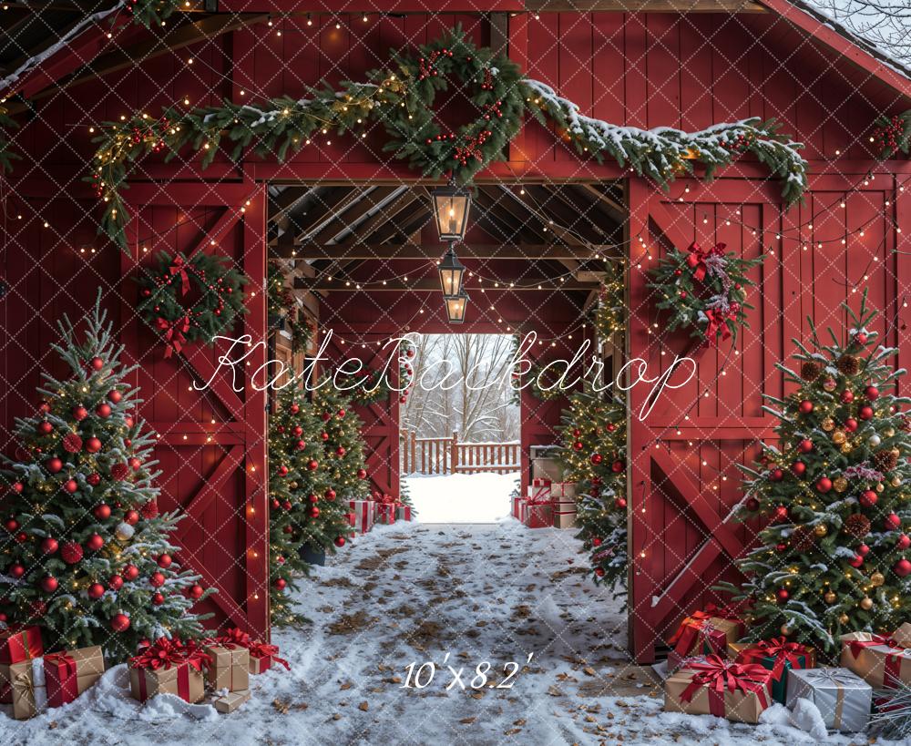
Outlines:
[[39,624],[47,649],[101,645],[113,660],[143,639],[198,637],[202,617],[189,609],[211,591],[173,559],[180,516],[159,514],[154,439],[100,292],[83,342],[66,317],[59,329],[51,346],[71,376],[45,375],[38,414],[15,421],[22,455],[0,472],[3,620]]

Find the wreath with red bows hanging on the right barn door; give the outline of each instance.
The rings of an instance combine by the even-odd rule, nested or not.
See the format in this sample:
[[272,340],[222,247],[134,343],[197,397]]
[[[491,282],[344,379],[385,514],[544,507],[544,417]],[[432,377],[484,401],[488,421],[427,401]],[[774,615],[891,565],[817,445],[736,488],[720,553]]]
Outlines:
[[763,257],[742,259],[724,252],[725,244],[702,249],[691,243],[685,250],[672,250],[651,272],[649,287],[658,291],[658,308],[670,311],[667,330],[690,329],[691,336],[709,344],[719,338],[736,337],[740,326],[748,327],[746,288],[752,281],[746,272],[762,263]]

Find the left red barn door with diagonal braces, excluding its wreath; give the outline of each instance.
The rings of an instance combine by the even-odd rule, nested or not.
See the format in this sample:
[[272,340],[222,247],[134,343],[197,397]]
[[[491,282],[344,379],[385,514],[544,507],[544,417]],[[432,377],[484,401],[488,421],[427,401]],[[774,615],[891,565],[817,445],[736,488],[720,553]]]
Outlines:
[[[249,363],[236,366],[232,385],[230,371],[216,373],[227,343],[187,344],[166,359],[158,333],[134,311],[137,261],[157,266],[159,250],[220,254],[250,279],[248,313],[231,335],[264,342],[265,188],[133,184],[128,197],[131,256],[123,258],[121,285],[125,362],[139,365],[140,414],[159,433],[161,508],[186,515],[176,542],[179,561],[217,590],[197,609],[213,614],[207,625],[268,635],[266,397],[251,386],[251,373],[265,362],[264,344],[252,348]],[[240,354],[234,350],[231,357]],[[194,388],[210,380],[205,390]]]

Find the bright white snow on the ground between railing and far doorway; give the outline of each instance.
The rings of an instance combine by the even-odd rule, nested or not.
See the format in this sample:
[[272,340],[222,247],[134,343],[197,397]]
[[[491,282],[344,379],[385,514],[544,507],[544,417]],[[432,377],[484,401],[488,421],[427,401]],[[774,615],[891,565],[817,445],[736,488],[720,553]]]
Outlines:
[[511,474],[412,475],[404,479],[420,523],[496,523],[509,516]]

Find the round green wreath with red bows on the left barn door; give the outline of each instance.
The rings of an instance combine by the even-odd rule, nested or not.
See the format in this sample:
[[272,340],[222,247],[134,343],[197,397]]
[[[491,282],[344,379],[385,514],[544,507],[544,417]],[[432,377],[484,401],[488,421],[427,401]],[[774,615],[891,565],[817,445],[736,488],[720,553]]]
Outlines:
[[227,257],[198,251],[191,257],[162,251],[158,269],[139,281],[138,312],[164,338],[165,357],[187,342],[211,344],[246,313],[241,287],[247,278]]

